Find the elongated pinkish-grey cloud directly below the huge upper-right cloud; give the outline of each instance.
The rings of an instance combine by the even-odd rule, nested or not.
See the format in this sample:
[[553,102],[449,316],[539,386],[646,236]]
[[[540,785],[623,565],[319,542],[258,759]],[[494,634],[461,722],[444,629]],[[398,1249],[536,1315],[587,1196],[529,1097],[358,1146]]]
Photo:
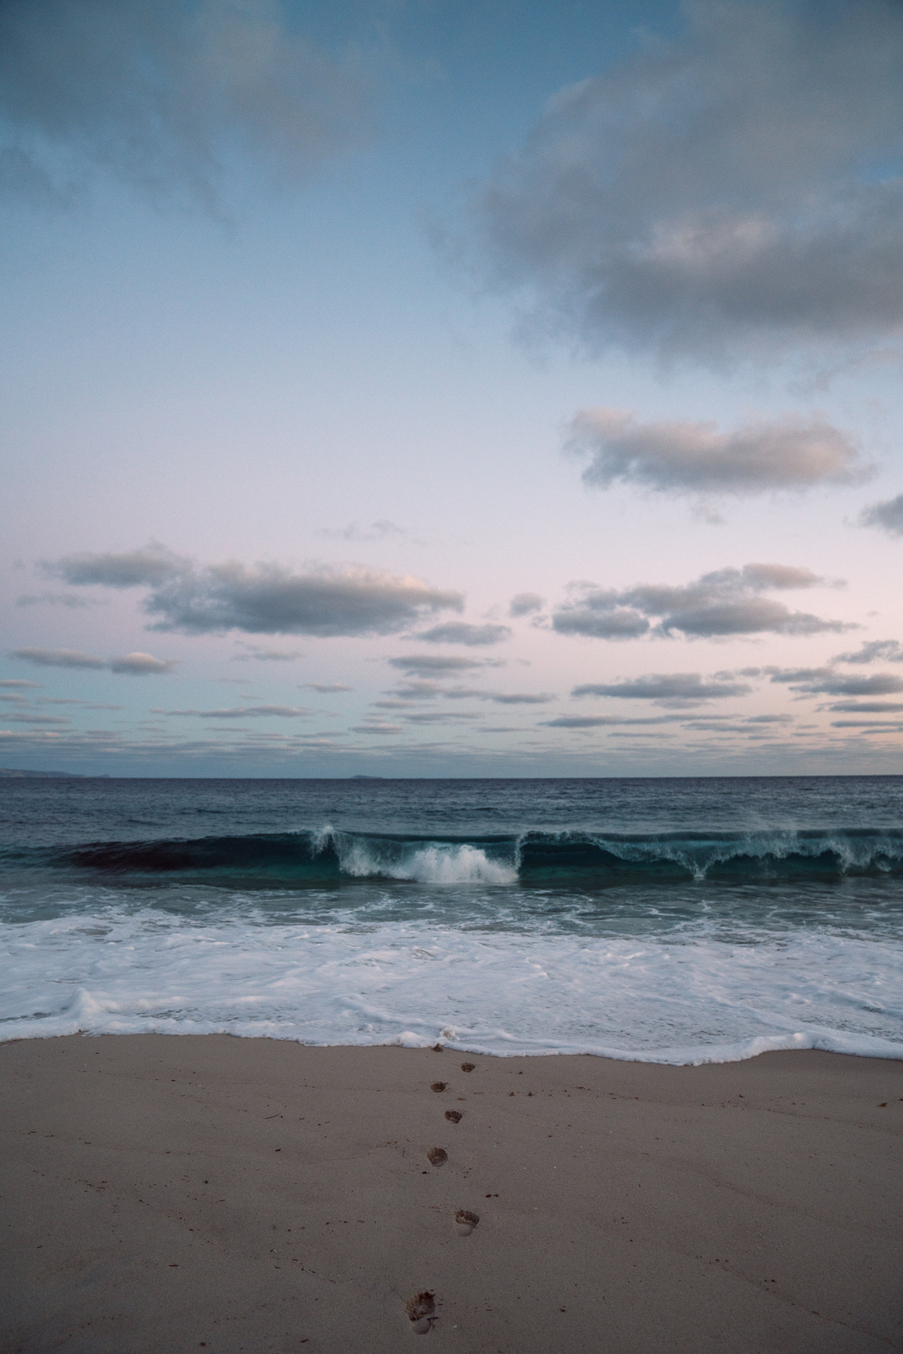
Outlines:
[[761,494],[862,479],[853,441],[820,418],[749,424],[718,432],[709,422],[640,424],[620,409],[585,409],[570,424],[567,450],[589,455],[583,483],[615,481],[659,493]]

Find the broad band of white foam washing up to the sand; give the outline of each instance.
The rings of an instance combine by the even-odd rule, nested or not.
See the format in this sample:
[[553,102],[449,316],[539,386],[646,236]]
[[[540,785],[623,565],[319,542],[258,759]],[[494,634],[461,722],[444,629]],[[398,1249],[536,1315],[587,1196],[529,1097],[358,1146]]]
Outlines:
[[0,1039],[221,1030],[677,1064],[776,1048],[903,1057],[900,994],[899,942],[824,927],[590,937],[116,904],[0,927]]

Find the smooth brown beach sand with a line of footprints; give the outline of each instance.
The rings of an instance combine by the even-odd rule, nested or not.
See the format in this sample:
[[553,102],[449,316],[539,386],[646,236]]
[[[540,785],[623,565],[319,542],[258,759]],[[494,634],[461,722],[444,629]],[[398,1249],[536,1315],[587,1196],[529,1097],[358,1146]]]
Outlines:
[[903,1349],[899,1062],[73,1036],[0,1091],[4,1354]]

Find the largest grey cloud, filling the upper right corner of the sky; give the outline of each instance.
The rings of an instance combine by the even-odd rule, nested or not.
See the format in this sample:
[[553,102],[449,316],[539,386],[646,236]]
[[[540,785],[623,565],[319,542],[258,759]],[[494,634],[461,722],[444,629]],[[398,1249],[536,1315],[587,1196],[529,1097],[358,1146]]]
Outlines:
[[898,333],[896,0],[686,0],[562,89],[474,202],[550,328],[707,360]]

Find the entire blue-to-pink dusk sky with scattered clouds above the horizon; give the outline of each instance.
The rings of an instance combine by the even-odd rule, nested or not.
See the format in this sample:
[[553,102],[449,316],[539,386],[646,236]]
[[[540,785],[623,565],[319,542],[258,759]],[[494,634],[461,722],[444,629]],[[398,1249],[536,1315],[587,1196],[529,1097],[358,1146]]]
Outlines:
[[0,766],[903,773],[900,0],[4,0]]

